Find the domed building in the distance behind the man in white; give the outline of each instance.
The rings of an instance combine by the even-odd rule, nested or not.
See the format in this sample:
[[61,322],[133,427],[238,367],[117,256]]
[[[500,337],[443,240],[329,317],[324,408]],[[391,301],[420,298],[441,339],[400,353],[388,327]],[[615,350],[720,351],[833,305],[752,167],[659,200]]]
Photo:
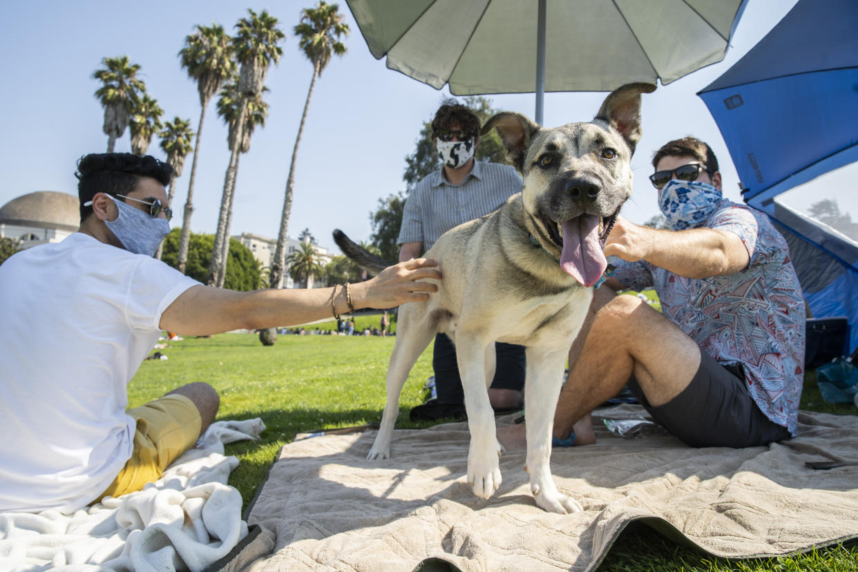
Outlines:
[[37,190],[0,207],[0,238],[21,241],[21,248],[58,243],[81,225],[76,195]]

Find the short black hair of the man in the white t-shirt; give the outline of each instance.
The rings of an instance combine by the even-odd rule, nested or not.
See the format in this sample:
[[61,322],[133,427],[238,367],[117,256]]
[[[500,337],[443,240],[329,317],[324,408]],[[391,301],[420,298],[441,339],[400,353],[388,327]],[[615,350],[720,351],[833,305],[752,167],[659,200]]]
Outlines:
[[81,222],[93,212],[95,193],[127,195],[135,190],[141,177],[151,177],[160,184],[170,184],[172,166],[149,155],[131,153],[91,153],[77,161],[77,197],[81,202]]

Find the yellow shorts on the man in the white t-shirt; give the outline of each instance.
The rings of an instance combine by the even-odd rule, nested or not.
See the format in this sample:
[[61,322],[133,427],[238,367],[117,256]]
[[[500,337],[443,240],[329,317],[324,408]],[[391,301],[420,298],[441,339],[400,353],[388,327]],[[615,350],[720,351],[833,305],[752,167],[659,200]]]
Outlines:
[[190,449],[200,437],[202,418],[194,403],[181,394],[165,395],[131,409],[137,420],[134,451],[116,479],[93,503],[140,491],[160,479],[166,467]]

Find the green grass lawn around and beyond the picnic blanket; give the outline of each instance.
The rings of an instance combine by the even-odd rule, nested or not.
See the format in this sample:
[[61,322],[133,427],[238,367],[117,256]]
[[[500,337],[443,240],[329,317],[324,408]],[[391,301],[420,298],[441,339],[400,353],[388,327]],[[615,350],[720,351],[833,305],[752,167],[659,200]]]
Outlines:
[[[359,316],[357,328],[378,326],[380,316]],[[320,328],[335,327],[334,322]],[[314,324],[311,328],[316,328]],[[378,423],[384,409],[384,376],[394,338],[378,336],[281,335],[263,346],[256,334],[219,334],[185,338],[159,350],[166,360],[143,362],[129,385],[129,406],[138,406],[189,382],[210,383],[221,394],[219,419],[262,418],[267,430],[256,442],[227,445],[239,457],[229,484],[245,508],[275,461],[282,445],[297,432]],[[397,427],[417,427],[411,407],[426,398],[432,375],[432,350],[411,371],[400,398]],[[801,408],[855,414],[849,404],[822,400],[815,376],[808,374]],[[423,424],[426,425],[426,424]],[[858,544],[796,557],[731,563],[713,560],[664,539],[649,527],[630,527],[601,564],[601,570],[858,570]]]

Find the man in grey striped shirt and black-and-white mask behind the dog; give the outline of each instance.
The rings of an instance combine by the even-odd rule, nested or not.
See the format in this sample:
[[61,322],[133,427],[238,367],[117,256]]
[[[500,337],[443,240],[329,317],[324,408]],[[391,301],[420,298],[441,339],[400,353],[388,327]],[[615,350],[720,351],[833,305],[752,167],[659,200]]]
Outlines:
[[[474,160],[480,142],[480,117],[464,105],[441,105],[432,119],[432,142],[442,166],[420,181],[408,195],[397,244],[399,260],[408,261],[429,250],[454,226],[479,219],[500,208],[522,190],[522,178],[511,166]],[[489,388],[492,407],[522,405],[524,347],[496,343],[495,376]],[[455,417],[464,412],[462,379],[456,349],[446,334],[435,337],[432,358],[437,404],[415,408],[418,417]],[[434,414],[433,414],[434,412]]]

